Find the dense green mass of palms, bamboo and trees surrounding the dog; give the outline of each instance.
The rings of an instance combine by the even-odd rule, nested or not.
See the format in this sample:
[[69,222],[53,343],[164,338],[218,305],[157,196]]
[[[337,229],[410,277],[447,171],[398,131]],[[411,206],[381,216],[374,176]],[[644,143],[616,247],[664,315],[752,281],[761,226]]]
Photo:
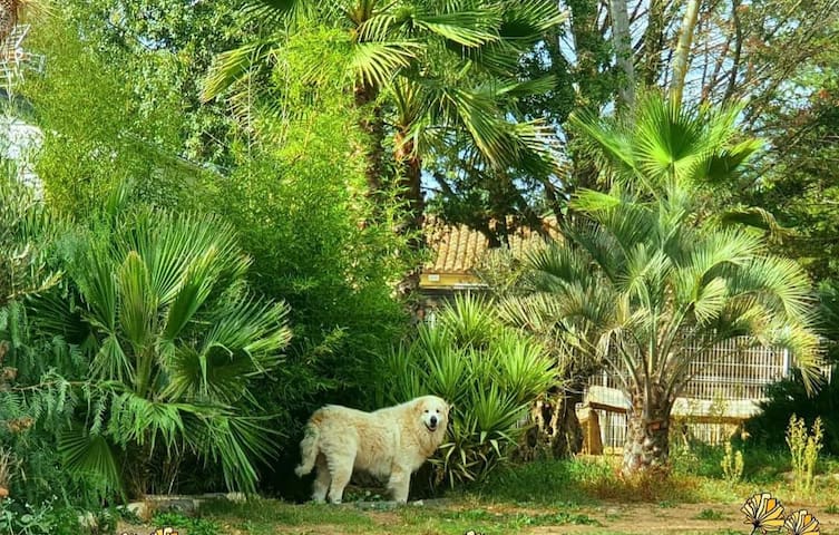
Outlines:
[[[6,3],[32,23],[0,94],[7,531],[147,492],[292,496],[325,402],[452,401],[432,484],[460,485],[603,366],[633,398],[624,468],[655,465],[686,344],[808,364],[818,327],[835,352],[837,0]],[[14,119],[41,130],[42,202],[7,169]],[[492,247],[564,237],[413,325],[427,207]],[[760,418],[831,410],[804,371]]]

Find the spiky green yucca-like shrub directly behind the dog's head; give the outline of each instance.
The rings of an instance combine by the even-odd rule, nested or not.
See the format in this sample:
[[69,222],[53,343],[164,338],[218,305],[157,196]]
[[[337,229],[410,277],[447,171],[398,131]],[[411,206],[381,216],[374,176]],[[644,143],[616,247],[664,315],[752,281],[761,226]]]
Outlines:
[[450,486],[480,479],[501,463],[518,444],[529,405],[555,382],[544,348],[503,327],[472,296],[440,310],[383,364],[382,402],[433,393],[452,405],[448,440],[431,459],[436,483]]

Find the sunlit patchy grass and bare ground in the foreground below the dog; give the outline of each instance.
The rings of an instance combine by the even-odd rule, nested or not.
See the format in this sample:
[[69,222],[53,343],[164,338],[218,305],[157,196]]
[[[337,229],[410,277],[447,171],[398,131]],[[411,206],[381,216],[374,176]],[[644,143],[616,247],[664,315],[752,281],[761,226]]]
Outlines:
[[[621,477],[620,459],[614,458],[549,460],[505,467],[465,490],[448,493],[443,503],[421,507],[373,504],[362,510],[352,504],[294,505],[257,498],[245,504],[207,504],[201,512],[203,524],[197,519],[178,522],[187,535],[459,535],[470,529],[486,535],[539,529],[625,535],[648,533],[654,526],[666,529],[677,517],[681,522],[705,523],[703,531],[694,532],[697,534],[734,535],[743,533],[736,529],[741,524],[738,504],[755,492],[771,492],[784,503],[807,505],[817,516],[839,513],[831,499],[839,494],[839,484],[823,478],[811,495],[796,495],[782,477],[787,463],[777,453],[751,451],[747,459],[759,465],[750,467],[747,460],[747,476],[739,484],[723,480],[721,470],[714,475],[714,463],[721,456],[713,449],[679,455],[683,457],[676,457],[669,478]],[[760,466],[763,463],[771,466]],[[836,461],[821,466],[835,467]],[[348,499],[353,496],[364,502],[375,497],[362,492]],[[645,527],[636,525],[640,519],[646,522]]]

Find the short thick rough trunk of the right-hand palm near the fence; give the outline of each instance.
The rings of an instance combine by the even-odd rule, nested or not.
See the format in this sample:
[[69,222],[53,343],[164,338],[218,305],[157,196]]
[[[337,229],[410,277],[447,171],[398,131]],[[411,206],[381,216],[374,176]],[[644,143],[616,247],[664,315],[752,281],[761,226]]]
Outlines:
[[670,457],[670,412],[673,402],[660,385],[651,385],[647,390],[632,392],[632,411],[621,469],[624,475],[663,470]]

